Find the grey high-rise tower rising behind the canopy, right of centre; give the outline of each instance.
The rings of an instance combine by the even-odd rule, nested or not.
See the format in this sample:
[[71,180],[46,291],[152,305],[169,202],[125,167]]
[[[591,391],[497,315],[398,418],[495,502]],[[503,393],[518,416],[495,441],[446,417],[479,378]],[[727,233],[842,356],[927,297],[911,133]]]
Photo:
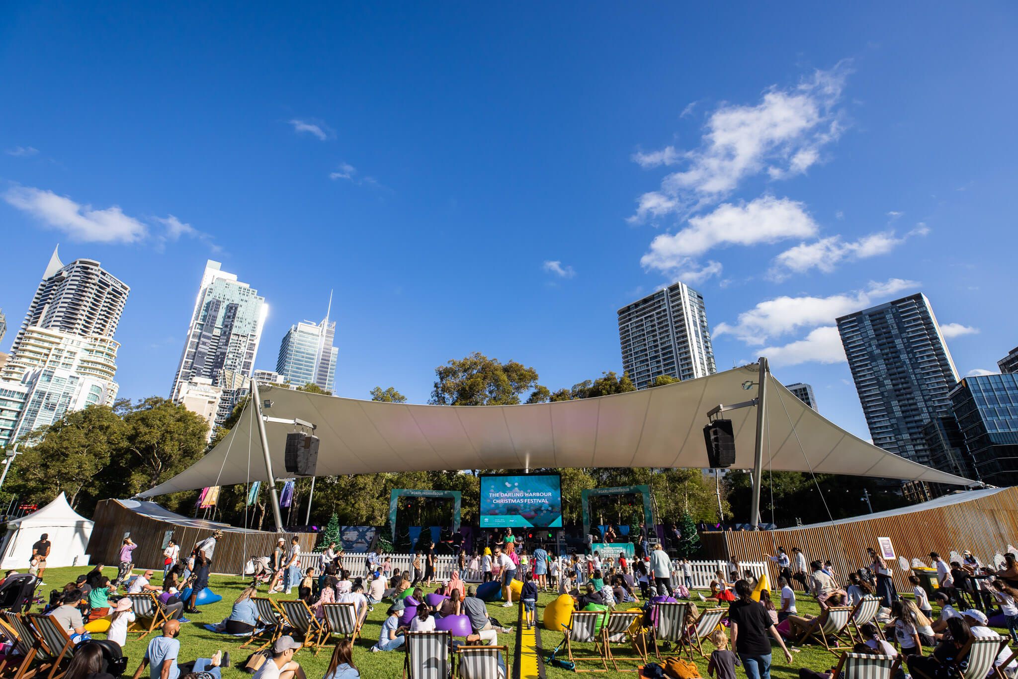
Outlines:
[[618,310],[622,370],[637,389],[659,375],[714,375],[714,346],[703,295],[677,282]]

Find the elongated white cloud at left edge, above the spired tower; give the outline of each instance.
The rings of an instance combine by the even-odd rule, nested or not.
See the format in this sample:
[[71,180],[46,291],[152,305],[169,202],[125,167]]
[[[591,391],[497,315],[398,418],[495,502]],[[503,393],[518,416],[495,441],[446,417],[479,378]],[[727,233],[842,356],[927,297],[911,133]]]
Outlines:
[[4,191],[3,199],[80,242],[133,243],[148,235],[145,224],[123,214],[117,206],[93,210],[90,205],[31,186],[13,186]]

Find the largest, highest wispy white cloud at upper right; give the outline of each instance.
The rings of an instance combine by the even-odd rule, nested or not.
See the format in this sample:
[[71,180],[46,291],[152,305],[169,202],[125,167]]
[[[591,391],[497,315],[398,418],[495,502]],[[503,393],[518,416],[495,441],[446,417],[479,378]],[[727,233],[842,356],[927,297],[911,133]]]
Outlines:
[[[722,199],[742,179],[761,172],[772,179],[801,174],[841,135],[838,104],[847,73],[843,62],[814,71],[794,88],[772,87],[755,106],[724,104],[708,118],[699,148],[681,153],[668,147],[635,154],[633,160],[644,167],[685,162],[685,169],[661,183],[660,192],[675,201],[674,212]],[[630,220],[660,216],[642,206],[641,197]]]

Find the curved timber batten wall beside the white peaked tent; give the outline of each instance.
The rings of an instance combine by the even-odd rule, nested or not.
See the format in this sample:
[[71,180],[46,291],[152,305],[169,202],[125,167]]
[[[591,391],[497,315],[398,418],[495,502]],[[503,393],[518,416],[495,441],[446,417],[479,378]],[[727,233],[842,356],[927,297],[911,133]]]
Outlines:
[[[163,569],[163,541],[167,531],[180,546],[180,553],[189,555],[194,546],[212,535],[215,528],[196,528],[138,514],[124,507],[117,500],[104,500],[96,507],[95,526],[89,540],[88,553],[93,564],[116,566],[120,563],[120,547],[125,532],[130,532],[137,548],[131,553],[135,568]],[[216,544],[212,560],[215,573],[238,574],[252,555],[272,554],[276,541],[282,535],[289,547],[294,535],[299,540],[301,552],[315,549],[315,533],[275,533],[264,531],[231,530],[223,526],[223,539]]]

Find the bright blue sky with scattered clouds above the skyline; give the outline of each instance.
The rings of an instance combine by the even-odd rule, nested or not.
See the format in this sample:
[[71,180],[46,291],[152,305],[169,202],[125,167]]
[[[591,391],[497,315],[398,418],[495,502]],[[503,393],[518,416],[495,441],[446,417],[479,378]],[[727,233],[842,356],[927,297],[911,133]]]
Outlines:
[[922,291],[963,375],[1018,344],[1018,10],[785,9],[8,3],[0,348],[57,242],[131,286],[131,398],[209,258],[270,304],[259,367],[334,289],[337,392],[415,402],[473,350],[619,371],[616,309],[684,280],[719,369],[868,438],[836,316]]

